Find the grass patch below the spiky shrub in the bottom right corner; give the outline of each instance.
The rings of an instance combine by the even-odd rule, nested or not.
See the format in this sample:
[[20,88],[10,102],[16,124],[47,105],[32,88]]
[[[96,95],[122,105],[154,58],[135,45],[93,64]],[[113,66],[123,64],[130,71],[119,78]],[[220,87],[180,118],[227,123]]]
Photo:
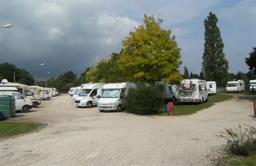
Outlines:
[[226,156],[221,159],[218,165],[256,165],[256,156]]

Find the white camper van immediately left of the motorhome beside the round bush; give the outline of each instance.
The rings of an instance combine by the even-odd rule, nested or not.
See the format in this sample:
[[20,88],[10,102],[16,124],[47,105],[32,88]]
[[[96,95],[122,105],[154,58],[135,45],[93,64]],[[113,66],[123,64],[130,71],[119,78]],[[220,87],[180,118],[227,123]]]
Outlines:
[[102,94],[102,88],[105,83],[88,84],[83,86],[82,91],[74,100],[74,105],[77,107],[97,106],[98,98]]

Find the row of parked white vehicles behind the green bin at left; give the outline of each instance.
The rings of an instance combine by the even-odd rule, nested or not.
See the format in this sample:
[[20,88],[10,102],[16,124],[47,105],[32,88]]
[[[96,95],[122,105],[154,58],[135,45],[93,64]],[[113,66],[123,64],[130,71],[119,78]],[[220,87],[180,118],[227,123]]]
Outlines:
[[0,84],[0,95],[11,95],[15,98],[15,110],[29,112],[34,107],[41,105],[41,100],[50,100],[59,93],[56,88],[44,88],[40,86],[28,86],[12,83],[3,79]]

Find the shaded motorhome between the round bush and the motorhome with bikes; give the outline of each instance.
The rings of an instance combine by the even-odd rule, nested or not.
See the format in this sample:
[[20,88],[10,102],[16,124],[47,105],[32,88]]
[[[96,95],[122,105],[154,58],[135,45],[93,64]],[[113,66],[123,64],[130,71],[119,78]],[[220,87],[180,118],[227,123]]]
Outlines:
[[164,92],[164,100],[165,102],[169,102],[169,101],[174,101],[175,99],[177,99],[177,86],[176,85],[171,85],[168,82],[155,82],[154,84],[155,86],[159,87],[161,92]]

